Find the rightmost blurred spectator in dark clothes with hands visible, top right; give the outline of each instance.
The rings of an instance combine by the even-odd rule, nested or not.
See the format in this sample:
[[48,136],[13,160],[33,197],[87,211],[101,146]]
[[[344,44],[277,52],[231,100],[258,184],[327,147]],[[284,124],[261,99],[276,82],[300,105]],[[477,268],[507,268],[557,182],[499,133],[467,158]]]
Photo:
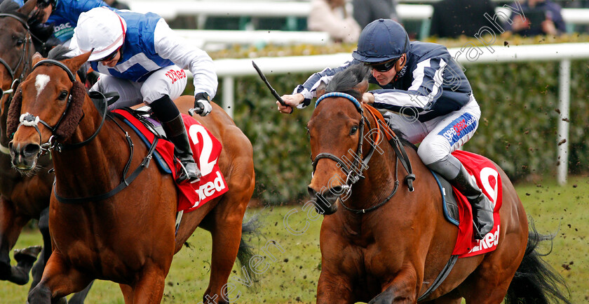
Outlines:
[[523,0],[523,15],[511,13],[511,31],[522,36],[548,34],[556,36],[566,32],[560,6],[550,0]]

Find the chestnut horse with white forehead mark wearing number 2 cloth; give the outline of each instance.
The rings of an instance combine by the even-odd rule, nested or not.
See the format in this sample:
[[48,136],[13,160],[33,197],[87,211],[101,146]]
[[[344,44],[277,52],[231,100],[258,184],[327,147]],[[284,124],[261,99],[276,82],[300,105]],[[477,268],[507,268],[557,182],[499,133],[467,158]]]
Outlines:
[[[46,145],[55,166],[49,213],[53,254],[29,303],[50,303],[93,279],[119,283],[126,303],[160,303],[172,257],[197,226],[212,234],[211,275],[203,298],[227,303],[224,285],[240,249],[243,215],[255,185],[250,141],[215,104],[210,115],[198,118],[222,143],[217,164],[229,191],[185,214],[176,235],[177,187],[155,165],[144,166],[133,183],[110,197],[62,203],[56,194],[81,198],[110,192],[123,184],[126,168],[140,168],[148,155],[133,129],[110,115],[105,119],[72,74],[89,55],[62,61],[34,56],[36,65],[8,116],[8,131],[16,129],[9,147],[14,166],[34,169]],[[175,102],[187,112],[194,98]],[[43,125],[32,127],[30,115]],[[17,128],[19,117],[25,118]]]

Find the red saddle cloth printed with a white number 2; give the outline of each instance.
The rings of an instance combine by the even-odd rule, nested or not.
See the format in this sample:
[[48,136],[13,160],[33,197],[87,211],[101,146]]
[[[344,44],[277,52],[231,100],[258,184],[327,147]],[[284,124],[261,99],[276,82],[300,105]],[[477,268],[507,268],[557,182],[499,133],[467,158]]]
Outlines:
[[[119,113],[128,119],[149,140],[149,143],[154,142],[154,133],[151,133],[139,120],[133,117],[133,114],[125,110],[114,110],[113,112]],[[201,180],[196,183],[176,184],[178,190],[180,190],[178,191],[178,211],[190,212],[203,206],[207,201],[224,194],[229,190],[229,187],[217,164],[222,149],[219,140],[189,115],[182,114],[182,119],[184,120],[184,126],[188,130],[192,154],[203,174]],[[174,144],[168,140],[160,139],[156,145],[156,151],[161,155],[165,163],[172,168],[172,176],[176,180]]]

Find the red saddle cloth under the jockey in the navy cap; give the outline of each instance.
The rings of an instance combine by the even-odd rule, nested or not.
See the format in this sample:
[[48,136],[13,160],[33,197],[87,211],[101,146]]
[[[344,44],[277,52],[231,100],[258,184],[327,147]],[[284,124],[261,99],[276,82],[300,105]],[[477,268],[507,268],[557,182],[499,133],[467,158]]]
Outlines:
[[475,178],[482,192],[489,197],[494,204],[494,227],[481,240],[473,239],[473,213],[466,197],[454,188],[454,197],[458,204],[460,224],[458,226],[458,239],[452,254],[459,258],[476,256],[478,254],[494,251],[499,244],[499,210],[502,203],[501,176],[495,165],[479,154],[456,150],[452,155],[460,160],[471,176]]

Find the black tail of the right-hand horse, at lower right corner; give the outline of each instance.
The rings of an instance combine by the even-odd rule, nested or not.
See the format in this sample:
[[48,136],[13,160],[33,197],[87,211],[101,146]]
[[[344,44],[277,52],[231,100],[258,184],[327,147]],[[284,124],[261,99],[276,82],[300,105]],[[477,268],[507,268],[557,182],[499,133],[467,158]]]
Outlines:
[[564,279],[556,270],[548,265],[542,256],[546,254],[538,253],[536,250],[538,244],[542,241],[550,241],[555,235],[542,235],[536,231],[534,221],[529,220],[530,231],[528,234],[528,243],[526,252],[520,267],[517,268],[515,276],[509,285],[505,298],[506,304],[545,304],[545,303],[567,303],[571,302],[564,296],[560,287],[564,287],[569,294],[569,288]]

